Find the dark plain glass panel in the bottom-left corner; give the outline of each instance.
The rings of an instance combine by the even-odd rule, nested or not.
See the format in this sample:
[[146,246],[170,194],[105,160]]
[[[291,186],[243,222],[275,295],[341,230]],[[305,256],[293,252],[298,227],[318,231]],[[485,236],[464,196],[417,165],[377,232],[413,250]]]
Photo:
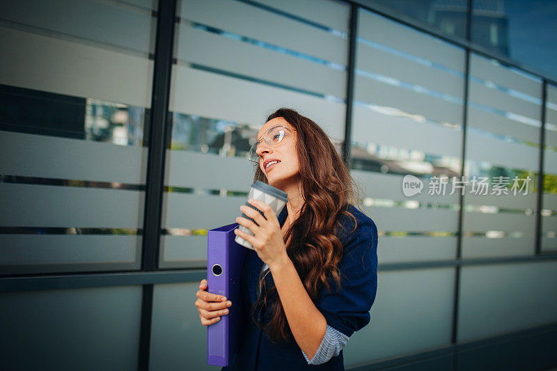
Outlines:
[[0,293],[2,369],[137,370],[141,295],[141,286]]

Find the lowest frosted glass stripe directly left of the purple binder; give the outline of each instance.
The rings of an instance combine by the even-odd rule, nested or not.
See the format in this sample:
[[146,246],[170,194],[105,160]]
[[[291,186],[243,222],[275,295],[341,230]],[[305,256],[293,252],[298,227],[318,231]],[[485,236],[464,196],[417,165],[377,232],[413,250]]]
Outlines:
[[[161,236],[161,246],[161,262],[180,262],[181,265],[184,265],[189,260],[197,267],[207,267],[207,236],[163,235]],[[205,262],[205,264],[200,264],[200,262]]]

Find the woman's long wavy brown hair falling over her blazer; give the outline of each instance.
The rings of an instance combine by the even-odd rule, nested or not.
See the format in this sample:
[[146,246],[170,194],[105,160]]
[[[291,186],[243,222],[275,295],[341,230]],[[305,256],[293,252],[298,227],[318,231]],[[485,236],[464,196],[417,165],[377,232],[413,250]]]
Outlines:
[[[331,291],[331,280],[340,290],[341,278],[337,266],[343,257],[343,244],[336,236],[340,226],[338,216],[345,214],[351,217],[354,220],[351,232],[356,229],[356,218],[347,211],[347,205],[352,204],[361,210],[360,190],[329,136],[319,125],[288,108],[276,110],[267,121],[278,117],[288,121],[297,133],[299,186],[304,199],[298,218],[292,221],[285,233],[285,241],[292,235],[286,251],[309,297],[313,303],[317,303],[322,287]],[[259,164],[256,164],[255,171],[253,182],[260,180],[269,183]],[[270,318],[267,324],[259,324],[255,319],[253,322],[273,342],[289,341],[292,332],[278,292],[274,286],[266,287],[263,276],[259,281],[262,294],[253,303],[251,317],[255,317],[258,308],[267,311]]]

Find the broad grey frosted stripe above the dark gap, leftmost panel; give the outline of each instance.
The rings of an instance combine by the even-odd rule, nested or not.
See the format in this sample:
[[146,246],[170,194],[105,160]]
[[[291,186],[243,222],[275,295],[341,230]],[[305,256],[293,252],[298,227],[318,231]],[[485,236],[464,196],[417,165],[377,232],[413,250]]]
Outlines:
[[[0,84],[149,107],[152,61],[0,27]],[[46,73],[45,73],[46,71]]]

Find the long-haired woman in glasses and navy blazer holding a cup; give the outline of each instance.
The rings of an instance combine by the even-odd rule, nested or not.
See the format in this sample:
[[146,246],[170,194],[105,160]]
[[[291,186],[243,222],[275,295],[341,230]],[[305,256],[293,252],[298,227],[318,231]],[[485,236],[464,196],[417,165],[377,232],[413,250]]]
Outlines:
[[[327,134],[292,109],[267,118],[252,147],[260,180],[288,194],[276,217],[260,200],[240,210],[237,235],[250,242],[241,284],[246,311],[240,347],[223,370],[344,370],[343,347],[370,322],[377,292],[377,227],[354,207],[354,180]],[[278,163],[270,164],[272,161]],[[201,324],[234,305],[196,293]]]

